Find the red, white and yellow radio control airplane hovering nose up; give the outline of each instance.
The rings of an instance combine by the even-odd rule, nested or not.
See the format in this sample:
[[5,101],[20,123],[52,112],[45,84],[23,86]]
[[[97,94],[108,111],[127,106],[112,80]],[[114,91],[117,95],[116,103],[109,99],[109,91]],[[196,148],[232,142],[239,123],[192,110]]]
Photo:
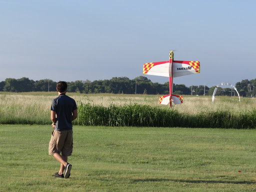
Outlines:
[[144,63],[143,65],[143,74],[169,77],[170,94],[161,96],[159,98],[159,103],[170,103],[170,107],[172,107],[172,102],[173,104],[181,104],[183,100],[182,96],[172,94],[172,78],[200,72],[199,61],[173,60],[173,55],[173,51],[171,50],[169,53],[169,60],[160,62],[148,62]]

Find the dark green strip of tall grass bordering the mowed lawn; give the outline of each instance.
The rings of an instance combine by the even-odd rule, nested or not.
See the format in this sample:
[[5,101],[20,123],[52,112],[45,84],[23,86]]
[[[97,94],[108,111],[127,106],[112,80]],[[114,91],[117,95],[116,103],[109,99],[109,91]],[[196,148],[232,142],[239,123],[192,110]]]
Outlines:
[[104,107],[90,103],[78,106],[78,125],[255,128],[256,110],[232,113],[228,110],[201,111],[197,114],[150,105],[125,104]]

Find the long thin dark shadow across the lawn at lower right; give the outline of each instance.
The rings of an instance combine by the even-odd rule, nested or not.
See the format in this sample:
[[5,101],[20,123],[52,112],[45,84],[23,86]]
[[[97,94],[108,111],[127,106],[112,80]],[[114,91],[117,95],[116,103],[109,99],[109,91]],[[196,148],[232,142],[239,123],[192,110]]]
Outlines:
[[145,178],[145,179],[133,179],[133,182],[153,182],[153,181],[174,181],[174,182],[187,182],[187,183],[231,183],[231,184],[256,184],[252,181],[222,181],[222,180],[177,180],[166,178]]

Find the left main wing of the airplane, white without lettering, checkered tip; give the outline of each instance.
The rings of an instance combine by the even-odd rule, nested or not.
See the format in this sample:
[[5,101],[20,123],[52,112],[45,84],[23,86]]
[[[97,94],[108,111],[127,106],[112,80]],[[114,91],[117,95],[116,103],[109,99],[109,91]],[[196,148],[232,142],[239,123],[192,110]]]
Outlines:
[[169,61],[144,63],[143,74],[169,77]]

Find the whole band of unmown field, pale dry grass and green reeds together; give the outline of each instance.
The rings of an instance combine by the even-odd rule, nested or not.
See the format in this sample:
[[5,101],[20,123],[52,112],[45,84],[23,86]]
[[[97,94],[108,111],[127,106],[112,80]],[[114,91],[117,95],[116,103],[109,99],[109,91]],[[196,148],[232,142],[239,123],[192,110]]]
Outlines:
[[[77,125],[255,128],[256,99],[183,97],[183,103],[158,104],[159,95],[67,93],[76,100]],[[0,92],[0,123],[49,124],[56,92]]]

